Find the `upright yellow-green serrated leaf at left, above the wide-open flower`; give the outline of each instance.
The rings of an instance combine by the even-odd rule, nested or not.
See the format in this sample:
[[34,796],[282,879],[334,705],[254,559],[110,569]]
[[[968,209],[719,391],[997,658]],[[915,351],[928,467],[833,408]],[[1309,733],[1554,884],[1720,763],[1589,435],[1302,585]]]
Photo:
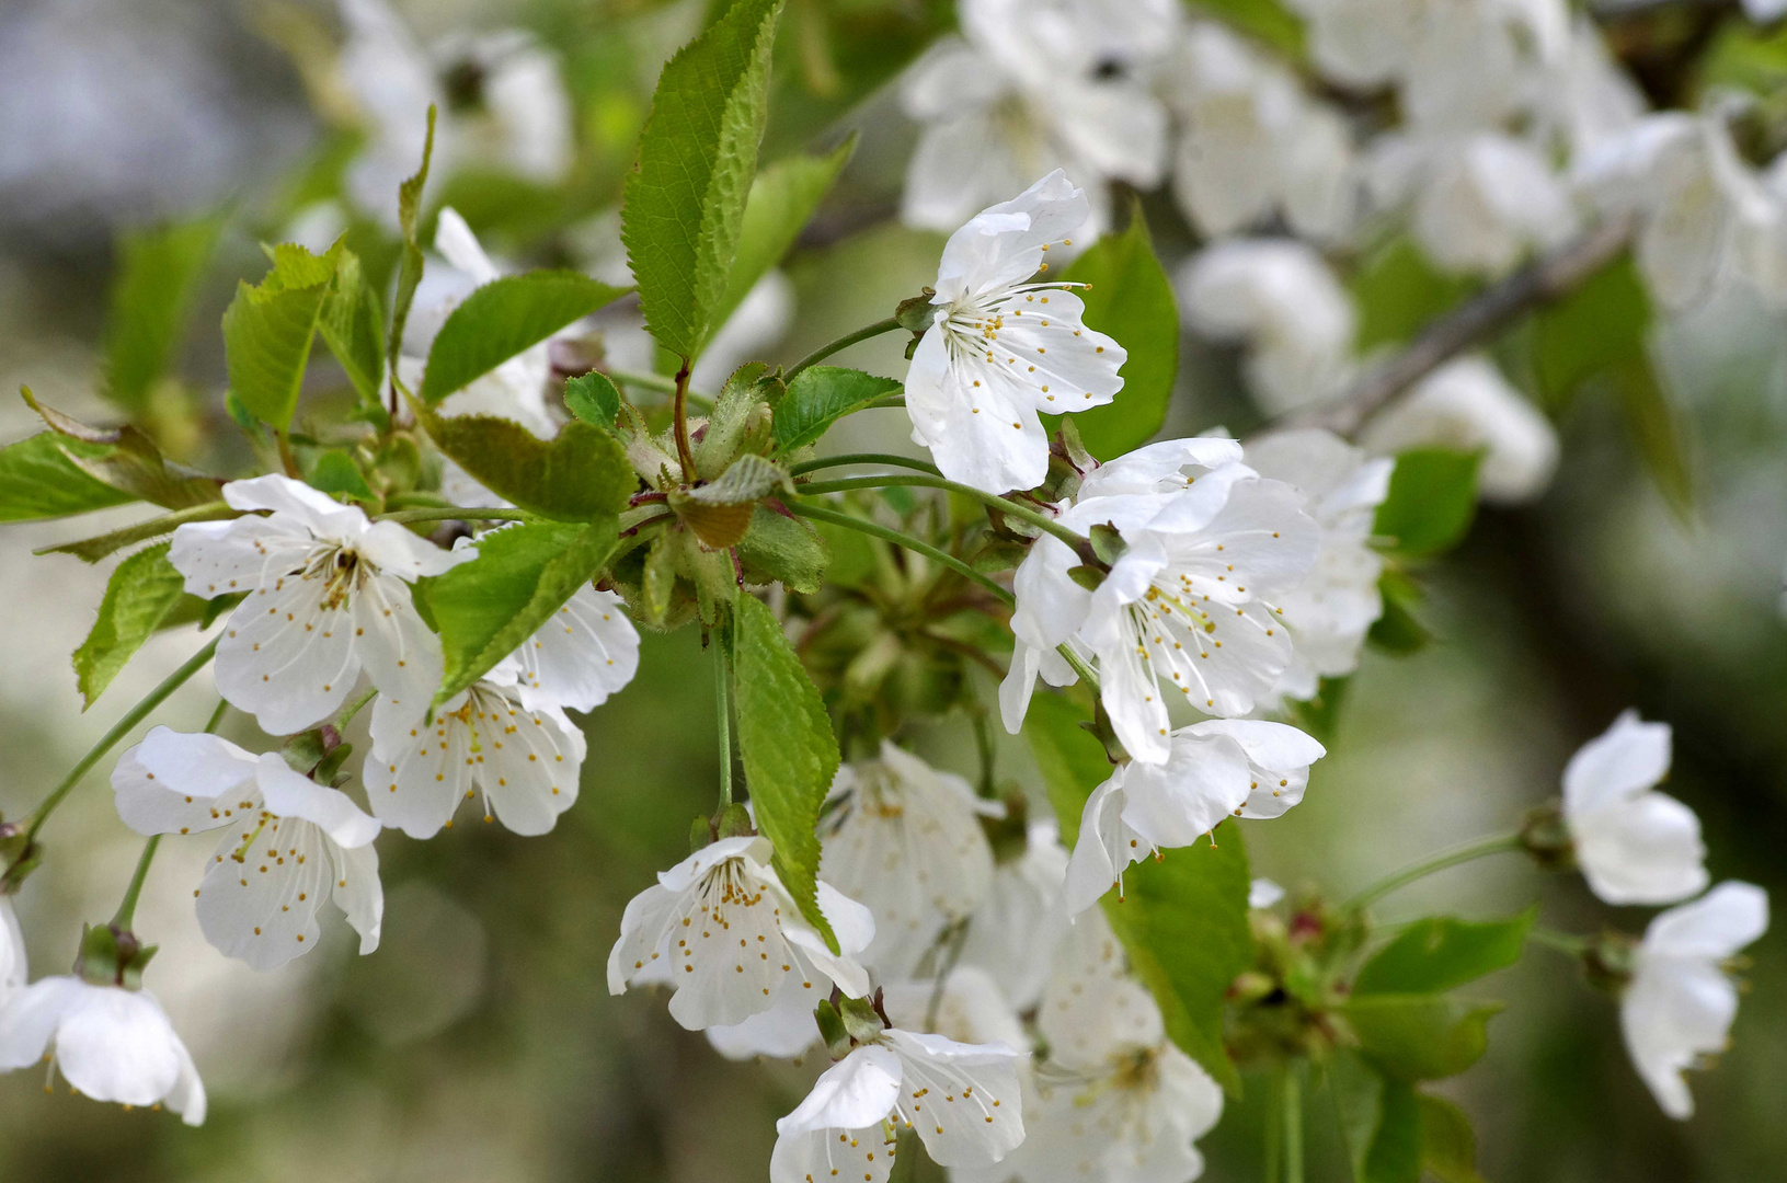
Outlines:
[[284,431],[298,409],[311,338],[329,298],[338,248],[313,256],[304,247],[273,248],[273,270],[257,288],[236,284],[223,309],[223,357],[231,393],[256,416]]

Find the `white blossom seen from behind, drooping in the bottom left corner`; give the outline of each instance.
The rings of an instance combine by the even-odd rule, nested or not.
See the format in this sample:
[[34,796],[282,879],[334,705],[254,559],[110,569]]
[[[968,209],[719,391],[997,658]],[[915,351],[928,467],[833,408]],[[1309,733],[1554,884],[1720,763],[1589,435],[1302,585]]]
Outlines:
[[198,1069],[147,990],[79,977],[41,977],[25,986],[0,1008],[0,1070],[43,1060],[95,1101],[164,1104],[188,1126],[206,1120]]

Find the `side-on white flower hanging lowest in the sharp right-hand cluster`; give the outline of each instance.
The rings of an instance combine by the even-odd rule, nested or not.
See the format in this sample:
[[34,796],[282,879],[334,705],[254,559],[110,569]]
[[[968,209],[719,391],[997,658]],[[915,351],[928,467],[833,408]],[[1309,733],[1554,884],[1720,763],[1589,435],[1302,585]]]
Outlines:
[[1321,743],[1287,724],[1212,718],[1172,733],[1165,763],[1129,761],[1092,790],[1067,865],[1065,902],[1083,913],[1156,851],[1188,847],[1226,817],[1281,817],[1303,801]]

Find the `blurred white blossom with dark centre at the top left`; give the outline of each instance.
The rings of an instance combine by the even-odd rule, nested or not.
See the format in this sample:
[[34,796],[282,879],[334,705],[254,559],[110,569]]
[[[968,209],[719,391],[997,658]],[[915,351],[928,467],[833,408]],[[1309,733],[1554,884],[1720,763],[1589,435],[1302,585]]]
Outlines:
[[382,0],[341,0],[348,36],[336,64],[368,143],[348,191],[395,229],[397,188],[422,164],[438,111],[432,175],[475,164],[558,184],[572,161],[572,107],[558,59],[520,30],[450,36],[431,48]]

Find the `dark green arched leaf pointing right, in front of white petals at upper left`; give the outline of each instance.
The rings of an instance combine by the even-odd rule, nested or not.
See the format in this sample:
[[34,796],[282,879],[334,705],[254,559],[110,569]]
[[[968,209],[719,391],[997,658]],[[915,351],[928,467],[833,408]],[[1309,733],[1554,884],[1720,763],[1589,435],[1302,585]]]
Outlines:
[[622,291],[577,272],[493,279],[454,307],[436,334],[429,368],[422,375],[422,402],[434,406],[465,390]]

